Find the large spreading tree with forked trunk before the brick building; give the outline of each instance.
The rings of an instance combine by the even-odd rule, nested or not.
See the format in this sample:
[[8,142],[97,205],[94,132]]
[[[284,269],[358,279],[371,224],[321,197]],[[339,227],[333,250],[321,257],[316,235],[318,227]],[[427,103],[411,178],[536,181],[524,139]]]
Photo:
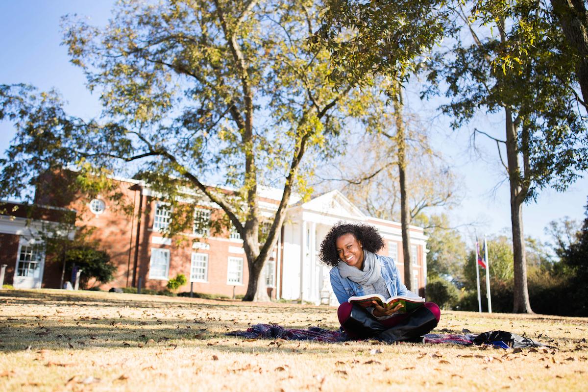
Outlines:
[[[339,109],[356,81],[335,89],[328,52],[309,50],[319,11],[313,1],[128,0],[103,28],[66,17],[64,43],[100,94],[102,119],[68,115],[56,93],[2,86],[0,119],[18,132],[0,162],[2,193],[18,195],[39,173],[65,165],[117,173],[131,162],[178,206],[182,189],[220,206],[243,239],[244,300],[263,298],[258,279],[290,196],[305,192],[303,156],[329,152],[343,113],[354,110]],[[260,243],[264,185],[283,192]],[[189,226],[189,213],[178,208],[173,218]]]

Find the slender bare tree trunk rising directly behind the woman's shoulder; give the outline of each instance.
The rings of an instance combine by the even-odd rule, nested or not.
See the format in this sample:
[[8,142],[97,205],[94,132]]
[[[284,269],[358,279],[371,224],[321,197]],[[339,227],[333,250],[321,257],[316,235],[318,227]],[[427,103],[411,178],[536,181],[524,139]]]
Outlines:
[[405,124],[402,116],[402,87],[400,82],[394,82],[394,92],[392,103],[394,106],[394,116],[396,120],[396,143],[398,148],[398,173],[400,183],[400,230],[402,232],[402,257],[404,259],[405,286],[409,290],[415,290],[412,287],[412,260],[410,260],[410,210],[408,206],[408,196],[406,192],[406,138]]

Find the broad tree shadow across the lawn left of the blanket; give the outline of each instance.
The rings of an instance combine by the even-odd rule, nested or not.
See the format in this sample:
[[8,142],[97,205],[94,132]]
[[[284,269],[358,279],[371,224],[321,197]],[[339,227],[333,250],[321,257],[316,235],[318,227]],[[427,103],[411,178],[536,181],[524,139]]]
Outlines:
[[[250,341],[242,337],[226,336],[225,332],[246,329],[247,326],[235,324],[228,326],[222,321],[213,320],[149,320],[115,319],[100,320],[32,320],[2,317],[0,319],[0,351],[22,350],[64,350],[79,351],[92,349],[176,349],[191,347],[199,351],[226,351],[232,353],[271,353],[299,354],[295,349],[299,341],[281,344],[282,348],[270,339]],[[77,323],[77,324],[76,324]],[[213,331],[212,333],[210,331]],[[216,331],[216,332],[215,332]],[[258,343],[255,343],[258,342]],[[262,344],[261,346],[259,344]],[[304,341],[306,351],[326,353],[330,345]],[[316,343],[316,344],[312,344]],[[312,344],[312,346],[309,346]]]

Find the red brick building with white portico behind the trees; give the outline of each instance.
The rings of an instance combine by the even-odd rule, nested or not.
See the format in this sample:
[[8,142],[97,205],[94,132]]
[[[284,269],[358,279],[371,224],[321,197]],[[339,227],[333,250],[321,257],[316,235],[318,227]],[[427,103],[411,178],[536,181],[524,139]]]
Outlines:
[[[162,232],[171,223],[171,208],[161,202],[148,184],[115,179],[116,190],[126,206],[123,209],[108,197],[85,200],[73,191],[65,191],[67,183],[65,177],[52,176],[52,186],[37,189],[35,204],[54,206],[45,207],[47,211],[76,212],[76,225],[95,227],[93,239],[98,240],[101,250],[109,253],[117,267],[112,282],[103,284],[102,289],[141,284],[141,287],[161,290],[168,279],[183,273],[188,277],[188,284],[180,291],[188,291],[192,284],[195,292],[245,294],[248,268],[243,242],[236,230],[209,229],[210,222],[220,219],[223,212],[202,195],[186,191],[186,202],[196,206],[195,225],[191,232],[169,238]],[[280,198],[280,190],[262,190],[259,199],[262,216],[271,219]],[[0,257],[1,263],[8,264],[5,283],[15,287],[59,287],[58,263],[45,260],[40,251],[29,254],[31,240],[35,242],[34,233],[8,227],[12,225],[9,221],[21,222],[9,209],[0,214],[4,214],[0,215]],[[51,219],[58,220],[55,216]],[[302,296],[304,301],[319,303],[321,297],[325,300],[325,294],[332,292],[329,267],[320,264],[318,248],[330,227],[340,220],[375,226],[386,241],[380,253],[392,256],[400,273],[404,273],[400,224],[364,215],[342,193],[333,190],[308,202],[290,200],[278,244],[262,276],[272,298],[293,300]],[[39,225],[39,219],[34,219],[29,227],[34,225]],[[426,237],[422,228],[414,226],[410,227],[410,236],[415,260],[411,276],[413,285],[422,291],[426,283]],[[32,272],[25,271],[31,257],[35,259],[35,268]],[[31,286],[23,282],[23,273],[35,274],[36,283]],[[334,295],[330,296],[330,302],[336,304]]]

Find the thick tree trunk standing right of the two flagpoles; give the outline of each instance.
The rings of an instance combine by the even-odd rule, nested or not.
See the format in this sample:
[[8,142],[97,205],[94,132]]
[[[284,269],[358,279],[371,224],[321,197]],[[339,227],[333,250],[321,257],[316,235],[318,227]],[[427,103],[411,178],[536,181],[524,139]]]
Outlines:
[[506,114],[506,158],[508,163],[510,185],[510,220],[513,235],[513,256],[515,270],[514,313],[533,313],[529,302],[527,288],[527,263],[524,252],[523,234],[523,201],[524,193],[521,186],[519,165],[519,149],[517,147],[517,125],[513,122],[512,111],[505,109]]

